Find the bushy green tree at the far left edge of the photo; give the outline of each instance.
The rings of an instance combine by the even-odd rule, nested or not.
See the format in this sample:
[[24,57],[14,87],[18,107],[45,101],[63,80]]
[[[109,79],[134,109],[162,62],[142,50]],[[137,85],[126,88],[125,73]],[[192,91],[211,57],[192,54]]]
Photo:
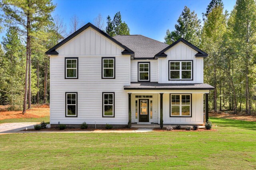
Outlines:
[[3,37],[2,45],[5,51],[1,55],[1,82],[3,98],[5,104],[9,104],[10,110],[14,110],[16,106],[22,105],[22,93],[24,89],[23,77],[25,70],[23,68],[25,58],[25,47],[22,45],[16,27],[10,27]]

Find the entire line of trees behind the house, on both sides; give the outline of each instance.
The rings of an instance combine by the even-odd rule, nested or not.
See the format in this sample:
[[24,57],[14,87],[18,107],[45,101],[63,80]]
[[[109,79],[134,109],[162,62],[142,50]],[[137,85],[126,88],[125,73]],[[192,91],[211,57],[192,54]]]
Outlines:
[[[26,113],[31,104],[49,102],[50,61],[45,51],[85,22],[74,15],[67,29],[61,16],[52,16],[56,5],[51,0],[1,0],[0,8],[0,31],[7,28],[0,44],[0,104]],[[130,35],[120,12],[108,16],[106,22],[99,14],[93,23],[111,37]],[[210,92],[210,107],[255,112],[256,2],[237,0],[228,13],[222,0],[211,0],[202,21],[185,6],[164,40],[172,44],[180,37],[208,53],[204,82],[215,87]]]

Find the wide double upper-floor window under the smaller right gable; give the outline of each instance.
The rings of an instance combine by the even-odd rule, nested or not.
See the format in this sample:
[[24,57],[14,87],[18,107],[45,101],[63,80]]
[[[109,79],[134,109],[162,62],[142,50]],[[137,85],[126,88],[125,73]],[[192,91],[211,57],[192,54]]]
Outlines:
[[193,80],[193,61],[169,61],[169,80]]

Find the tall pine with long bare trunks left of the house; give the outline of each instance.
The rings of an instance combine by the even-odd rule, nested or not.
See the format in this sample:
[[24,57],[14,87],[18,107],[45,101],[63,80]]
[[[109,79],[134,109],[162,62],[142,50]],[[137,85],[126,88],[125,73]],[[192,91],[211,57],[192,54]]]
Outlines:
[[6,22],[20,25],[19,31],[26,35],[26,74],[22,111],[26,113],[27,96],[28,109],[31,107],[31,34],[48,23],[55,6],[51,0],[2,0],[2,4]]

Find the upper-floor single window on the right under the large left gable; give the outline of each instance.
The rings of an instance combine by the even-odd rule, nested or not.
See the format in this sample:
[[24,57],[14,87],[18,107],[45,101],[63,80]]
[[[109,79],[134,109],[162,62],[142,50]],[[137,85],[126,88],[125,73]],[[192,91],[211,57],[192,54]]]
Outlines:
[[115,78],[115,57],[102,57],[102,78]]

